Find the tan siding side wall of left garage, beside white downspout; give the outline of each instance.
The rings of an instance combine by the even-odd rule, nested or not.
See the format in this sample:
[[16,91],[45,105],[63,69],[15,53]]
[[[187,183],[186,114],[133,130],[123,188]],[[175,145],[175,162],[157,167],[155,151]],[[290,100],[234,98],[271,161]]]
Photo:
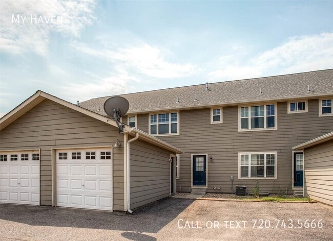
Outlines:
[[131,209],[170,196],[170,152],[142,140],[130,149]]

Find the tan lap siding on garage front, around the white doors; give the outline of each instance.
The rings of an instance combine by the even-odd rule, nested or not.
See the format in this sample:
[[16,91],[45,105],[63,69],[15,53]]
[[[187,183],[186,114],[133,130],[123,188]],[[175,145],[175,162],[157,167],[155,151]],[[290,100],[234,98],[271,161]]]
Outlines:
[[[112,146],[117,128],[45,100],[1,130],[2,150],[40,148],[40,204],[52,205],[51,149]],[[121,143],[123,147],[123,143]],[[123,148],[113,155],[114,210],[123,210]]]

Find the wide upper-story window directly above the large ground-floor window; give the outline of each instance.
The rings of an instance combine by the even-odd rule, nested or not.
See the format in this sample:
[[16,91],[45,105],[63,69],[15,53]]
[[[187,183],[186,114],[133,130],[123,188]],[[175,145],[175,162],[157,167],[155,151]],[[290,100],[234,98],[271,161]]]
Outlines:
[[276,104],[239,107],[239,130],[276,130]]

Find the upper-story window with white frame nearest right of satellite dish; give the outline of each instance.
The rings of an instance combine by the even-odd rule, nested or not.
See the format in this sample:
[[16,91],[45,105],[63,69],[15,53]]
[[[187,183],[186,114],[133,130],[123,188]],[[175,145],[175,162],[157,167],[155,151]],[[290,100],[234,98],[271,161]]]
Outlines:
[[150,114],[149,134],[179,134],[179,112]]

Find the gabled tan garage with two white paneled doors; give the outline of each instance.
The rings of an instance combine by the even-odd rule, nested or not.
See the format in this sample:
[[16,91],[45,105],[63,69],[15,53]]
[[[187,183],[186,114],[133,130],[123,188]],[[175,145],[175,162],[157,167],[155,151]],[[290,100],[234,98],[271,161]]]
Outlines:
[[174,191],[181,150],[129,126],[120,134],[112,119],[45,92],[0,127],[2,203],[131,211]]

